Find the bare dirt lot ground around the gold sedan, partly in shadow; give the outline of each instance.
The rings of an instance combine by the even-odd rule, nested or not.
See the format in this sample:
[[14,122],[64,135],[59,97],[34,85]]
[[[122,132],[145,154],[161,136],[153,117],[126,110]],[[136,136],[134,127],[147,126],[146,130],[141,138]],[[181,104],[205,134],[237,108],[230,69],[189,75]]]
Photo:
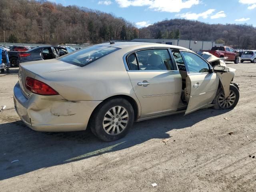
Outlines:
[[0,75],[0,191],[256,192],[256,64],[227,66],[240,84],[233,110],[138,122],[109,143],[90,130],[30,130],[13,106],[17,69]]

